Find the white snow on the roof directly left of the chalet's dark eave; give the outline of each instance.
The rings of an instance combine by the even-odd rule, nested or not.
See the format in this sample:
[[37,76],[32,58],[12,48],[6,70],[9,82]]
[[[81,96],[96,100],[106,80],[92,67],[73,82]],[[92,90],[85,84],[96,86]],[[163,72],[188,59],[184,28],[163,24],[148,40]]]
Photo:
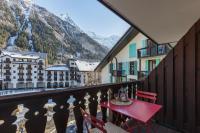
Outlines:
[[86,71],[86,72],[94,71],[94,69],[99,64],[99,62],[86,62],[86,61],[80,61],[80,60],[77,60],[75,62],[79,71]]

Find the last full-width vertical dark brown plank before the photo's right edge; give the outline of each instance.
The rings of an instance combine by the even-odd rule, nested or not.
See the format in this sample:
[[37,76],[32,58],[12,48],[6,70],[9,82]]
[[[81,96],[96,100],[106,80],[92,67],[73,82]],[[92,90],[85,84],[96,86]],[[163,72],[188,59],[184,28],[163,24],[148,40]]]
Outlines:
[[185,122],[189,131],[194,132],[195,128],[195,27],[184,37],[184,99],[185,99]]

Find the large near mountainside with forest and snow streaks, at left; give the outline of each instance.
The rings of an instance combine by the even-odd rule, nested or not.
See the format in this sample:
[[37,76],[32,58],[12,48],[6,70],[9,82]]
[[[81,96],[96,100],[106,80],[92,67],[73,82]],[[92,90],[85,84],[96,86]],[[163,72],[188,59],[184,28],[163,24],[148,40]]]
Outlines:
[[100,60],[108,52],[67,14],[56,16],[32,0],[0,1],[0,47],[47,52],[49,63],[61,55]]

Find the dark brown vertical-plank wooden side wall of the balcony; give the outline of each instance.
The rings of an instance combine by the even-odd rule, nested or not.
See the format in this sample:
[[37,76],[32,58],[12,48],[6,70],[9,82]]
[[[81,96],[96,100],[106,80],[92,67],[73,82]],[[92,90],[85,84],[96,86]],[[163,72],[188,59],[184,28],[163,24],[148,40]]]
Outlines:
[[144,81],[158,93],[159,122],[188,133],[200,133],[200,20]]

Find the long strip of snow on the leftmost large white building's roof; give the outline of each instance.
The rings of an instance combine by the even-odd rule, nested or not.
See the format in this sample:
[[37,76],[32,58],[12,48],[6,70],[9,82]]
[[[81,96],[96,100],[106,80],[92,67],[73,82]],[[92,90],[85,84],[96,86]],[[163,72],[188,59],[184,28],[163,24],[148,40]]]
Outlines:
[[40,56],[31,54],[22,54],[19,52],[2,51],[3,55],[10,56],[12,58],[23,58],[23,59],[39,59]]

